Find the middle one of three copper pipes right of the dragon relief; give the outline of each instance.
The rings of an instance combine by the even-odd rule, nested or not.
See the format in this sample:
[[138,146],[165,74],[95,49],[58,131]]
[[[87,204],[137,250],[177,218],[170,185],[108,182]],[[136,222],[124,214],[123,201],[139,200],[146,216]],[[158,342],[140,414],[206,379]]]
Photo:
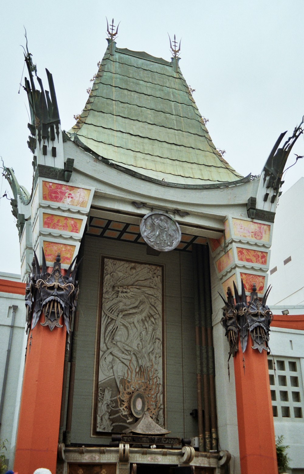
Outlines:
[[209,390],[208,390],[208,359],[207,359],[207,339],[206,339],[206,311],[205,311],[205,278],[203,275],[203,254],[201,246],[197,247],[197,266],[198,266],[198,308],[201,322],[201,367],[203,378],[203,397],[205,411],[205,448],[206,451],[211,449],[211,432],[210,432],[210,413],[209,413]]

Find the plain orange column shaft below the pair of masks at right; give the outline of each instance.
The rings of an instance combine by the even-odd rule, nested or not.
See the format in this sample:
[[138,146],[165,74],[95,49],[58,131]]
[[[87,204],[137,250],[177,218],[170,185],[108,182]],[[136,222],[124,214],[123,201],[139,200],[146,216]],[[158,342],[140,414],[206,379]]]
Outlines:
[[234,356],[241,474],[277,474],[277,452],[266,351],[251,348]]

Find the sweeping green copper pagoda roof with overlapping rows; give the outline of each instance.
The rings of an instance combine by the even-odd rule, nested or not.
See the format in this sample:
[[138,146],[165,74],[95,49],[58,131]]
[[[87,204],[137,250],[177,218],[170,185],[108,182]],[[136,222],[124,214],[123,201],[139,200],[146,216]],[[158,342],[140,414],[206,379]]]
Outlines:
[[179,58],[168,62],[117,48],[111,40],[68,134],[108,162],[154,182],[204,185],[242,177],[216,150]]

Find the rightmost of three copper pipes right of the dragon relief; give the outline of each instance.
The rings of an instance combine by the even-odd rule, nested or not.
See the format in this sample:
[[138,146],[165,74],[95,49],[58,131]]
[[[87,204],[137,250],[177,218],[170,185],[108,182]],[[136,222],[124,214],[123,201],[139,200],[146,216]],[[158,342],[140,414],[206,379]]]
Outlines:
[[212,304],[210,288],[210,266],[209,266],[209,248],[203,246],[203,265],[205,276],[205,307],[206,307],[206,332],[207,332],[207,350],[208,350],[208,373],[210,390],[210,418],[211,418],[211,444],[212,450],[218,449],[218,434],[216,426],[216,405],[215,405],[215,360],[212,335]]

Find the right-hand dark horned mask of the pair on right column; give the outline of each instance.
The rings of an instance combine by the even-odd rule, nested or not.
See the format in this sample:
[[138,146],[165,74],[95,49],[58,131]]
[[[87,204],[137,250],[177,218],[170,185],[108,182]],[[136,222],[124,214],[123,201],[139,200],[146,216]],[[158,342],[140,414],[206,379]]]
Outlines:
[[257,287],[255,283],[253,283],[248,308],[245,309],[249,325],[249,332],[253,342],[253,346],[251,347],[252,349],[258,349],[260,353],[262,353],[263,349],[265,351],[269,351],[269,331],[273,316],[272,312],[266,305],[266,301],[270,290],[271,288],[268,286],[267,291],[263,296],[263,300],[260,301],[257,293]]

